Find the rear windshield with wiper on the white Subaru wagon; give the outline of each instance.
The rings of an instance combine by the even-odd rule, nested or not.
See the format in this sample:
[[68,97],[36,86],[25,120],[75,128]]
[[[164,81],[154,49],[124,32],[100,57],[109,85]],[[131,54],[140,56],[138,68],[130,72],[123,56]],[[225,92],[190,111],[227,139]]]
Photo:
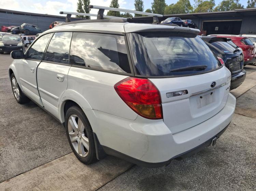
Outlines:
[[194,34],[140,32],[128,36],[138,75],[193,75],[221,66],[204,41]]

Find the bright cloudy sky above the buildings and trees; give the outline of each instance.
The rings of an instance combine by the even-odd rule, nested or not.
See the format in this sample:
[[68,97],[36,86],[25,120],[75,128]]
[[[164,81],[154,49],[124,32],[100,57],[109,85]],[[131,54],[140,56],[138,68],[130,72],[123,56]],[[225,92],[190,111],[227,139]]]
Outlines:
[[[217,5],[222,0],[215,0]],[[91,5],[109,6],[111,0],[90,0]],[[134,10],[134,0],[119,0],[120,8]],[[151,8],[153,0],[144,0],[144,11]],[[166,4],[176,3],[177,0],[166,0]],[[30,13],[41,13],[49,15],[60,15],[60,11],[76,12],[77,0],[0,0],[0,8],[24,11]],[[190,0],[194,5],[194,0]],[[247,0],[240,0],[240,3],[247,6]],[[90,13],[97,14],[96,9],[92,9]],[[106,14],[106,11],[105,13]],[[73,17],[73,16],[72,16]]]

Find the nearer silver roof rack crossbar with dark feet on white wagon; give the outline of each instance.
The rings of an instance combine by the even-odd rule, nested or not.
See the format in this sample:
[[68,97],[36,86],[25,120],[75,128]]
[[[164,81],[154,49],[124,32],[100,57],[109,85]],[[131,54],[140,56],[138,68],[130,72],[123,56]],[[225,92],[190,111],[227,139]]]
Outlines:
[[103,19],[103,17],[104,17],[103,13],[105,10],[153,16],[154,24],[159,23],[158,17],[163,17],[163,15],[160,15],[160,14],[146,13],[146,12],[141,12],[141,11],[133,11],[133,10],[123,9],[123,8],[113,8],[113,7],[104,7],[104,6],[96,6],[96,5],[89,5],[89,8],[99,9],[97,19]]

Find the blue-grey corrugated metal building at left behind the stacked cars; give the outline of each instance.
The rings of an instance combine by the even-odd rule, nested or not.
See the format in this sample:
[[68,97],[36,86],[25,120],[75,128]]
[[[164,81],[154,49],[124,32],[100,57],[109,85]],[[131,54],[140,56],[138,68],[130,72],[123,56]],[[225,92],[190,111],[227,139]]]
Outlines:
[[[81,20],[71,18],[71,21]],[[11,11],[0,8],[0,27],[3,26],[20,26],[23,23],[29,23],[38,26],[41,30],[46,31],[49,25],[54,21],[66,21],[66,17],[56,15],[46,15],[37,13],[27,13],[20,11]]]

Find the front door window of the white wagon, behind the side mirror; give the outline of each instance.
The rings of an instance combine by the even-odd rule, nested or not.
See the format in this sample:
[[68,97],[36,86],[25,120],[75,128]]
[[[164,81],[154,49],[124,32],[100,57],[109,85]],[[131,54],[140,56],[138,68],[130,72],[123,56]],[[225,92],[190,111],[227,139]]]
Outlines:
[[38,38],[37,41],[35,41],[35,43],[30,46],[26,54],[26,58],[42,60],[45,48],[51,36],[52,34],[40,36],[40,38]]

